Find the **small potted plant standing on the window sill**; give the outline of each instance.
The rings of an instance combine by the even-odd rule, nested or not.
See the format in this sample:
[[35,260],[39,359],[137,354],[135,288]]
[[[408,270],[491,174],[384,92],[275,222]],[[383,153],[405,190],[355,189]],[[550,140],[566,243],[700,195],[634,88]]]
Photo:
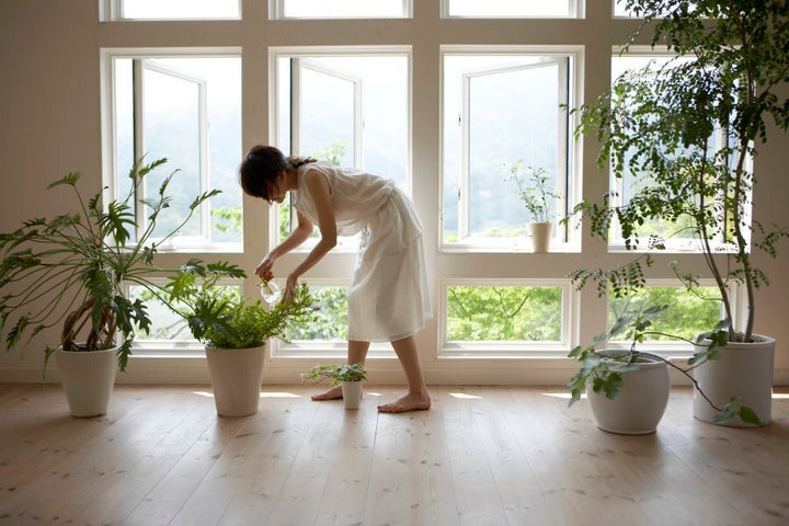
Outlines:
[[556,199],[561,199],[561,194],[546,175],[545,169],[527,167],[527,175],[523,178],[519,174],[522,165],[523,160],[518,160],[510,168],[510,179],[517,185],[516,194],[531,218],[527,228],[534,251],[548,252],[556,218]]

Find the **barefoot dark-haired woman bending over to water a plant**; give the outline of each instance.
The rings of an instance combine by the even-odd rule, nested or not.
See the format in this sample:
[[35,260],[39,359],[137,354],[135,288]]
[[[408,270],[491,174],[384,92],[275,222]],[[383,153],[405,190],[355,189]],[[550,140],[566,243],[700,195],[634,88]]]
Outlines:
[[[298,278],[334,245],[338,236],[362,232],[358,261],[348,288],[348,364],[364,364],[370,342],[390,342],[405,371],[409,392],[379,405],[385,413],[430,409],[414,334],[431,317],[424,268],[422,225],[412,203],[390,180],[340,169],[311,158],[286,158],[271,146],[255,146],[240,168],[241,186],[253,197],[283,203],[293,193],[298,226],[255,270],[274,277],[283,254],[307,240],[313,225],[320,240],[287,276],[284,301],[296,294]],[[340,386],[312,397],[342,398]]]

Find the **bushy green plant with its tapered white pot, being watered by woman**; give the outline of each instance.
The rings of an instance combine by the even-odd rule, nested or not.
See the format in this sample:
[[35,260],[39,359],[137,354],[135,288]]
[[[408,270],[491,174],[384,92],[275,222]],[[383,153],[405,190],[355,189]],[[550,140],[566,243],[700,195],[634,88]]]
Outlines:
[[[285,339],[289,322],[306,322],[312,312],[312,297],[302,284],[296,298],[270,308],[244,299],[224,279],[247,277],[243,270],[225,262],[190,260],[167,285],[168,305],[188,325],[192,335],[205,344],[208,371],[217,413],[245,416],[258,412],[263,379],[265,343]],[[261,283],[264,296],[273,287]]]

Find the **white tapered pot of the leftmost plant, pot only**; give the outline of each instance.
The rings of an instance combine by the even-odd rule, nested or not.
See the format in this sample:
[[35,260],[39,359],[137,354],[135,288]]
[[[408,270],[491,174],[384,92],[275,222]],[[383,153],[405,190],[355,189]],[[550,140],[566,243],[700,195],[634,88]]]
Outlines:
[[106,414],[115,375],[117,347],[106,351],[55,351],[60,382],[72,416]]

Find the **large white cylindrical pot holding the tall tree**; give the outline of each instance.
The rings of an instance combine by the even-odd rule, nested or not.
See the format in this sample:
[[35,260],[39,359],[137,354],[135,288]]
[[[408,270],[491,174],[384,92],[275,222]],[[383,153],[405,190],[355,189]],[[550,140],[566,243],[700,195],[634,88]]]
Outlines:
[[[768,424],[773,412],[773,367],[775,339],[754,334],[755,342],[730,342],[719,347],[720,357],[694,369],[699,388],[718,407],[734,397],[740,403],[753,409],[759,420]],[[701,342],[704,345],[705,342]],[[702,348],[697,348],[702,351]],[[718,414],[697,391],[694,392],[694,416],[702,422],[714,422]],[[753,427],[735,416],[723,425]]]

